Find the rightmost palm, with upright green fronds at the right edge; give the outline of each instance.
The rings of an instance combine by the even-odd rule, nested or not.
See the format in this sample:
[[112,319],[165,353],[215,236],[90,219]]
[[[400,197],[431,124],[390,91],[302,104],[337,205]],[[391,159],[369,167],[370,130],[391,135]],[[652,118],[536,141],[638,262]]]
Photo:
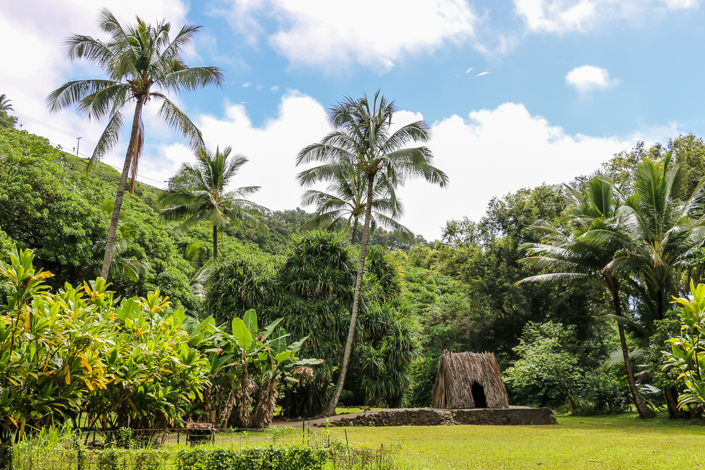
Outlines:
[[[639,276],[632,285],[641,300],[635,323],[644,330],[644,340],[655,333],[654,322],[664,318],[670,297],[679,294],[675,285],[679,268],[690,264],[692,253],[705,241],[703,180],[687,194],[687,171],[671,163],[670,154],[660,162],[639,163],[632,194],[622,196],[619,209],[625,230],[606,227],[584,235],[591,245],[624,237],[625,249],[615,254],[613,268]],[[669,416],[682,416],[678,390],[667,388],[663,395]]]

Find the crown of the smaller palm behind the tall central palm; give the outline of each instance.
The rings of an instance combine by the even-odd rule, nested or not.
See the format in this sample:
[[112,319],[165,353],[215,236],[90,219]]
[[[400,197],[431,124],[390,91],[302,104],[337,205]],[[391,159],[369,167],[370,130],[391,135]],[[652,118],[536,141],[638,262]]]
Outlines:
[[[341,175],[327,191],[307,190],[301,198],[303,206],[316,206],[317,215],[301,225],[303,230],[350,230],[350,240],[357,242],[357,226],[365,211],[365,195],[367,194],[367,178],[354,172]],[[388,230],[399,235],[403,240],[412,240],[414,234],[396,221],[403,216],[404,206],[397,199],[394,188],[382,187],[378,180],[374,186],[372,199],[372,221],[370,234],[377,225],[383,225]],[[352,230],[351,230],[352,228]]]

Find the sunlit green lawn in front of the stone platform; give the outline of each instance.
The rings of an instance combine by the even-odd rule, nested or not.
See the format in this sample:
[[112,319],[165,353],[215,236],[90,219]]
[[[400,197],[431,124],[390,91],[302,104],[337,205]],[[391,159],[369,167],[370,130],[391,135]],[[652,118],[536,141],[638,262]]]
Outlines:
[[633,414],[557,426],[331,428],[351,443],[402,442],[407,469],[705,469],[705,423]]

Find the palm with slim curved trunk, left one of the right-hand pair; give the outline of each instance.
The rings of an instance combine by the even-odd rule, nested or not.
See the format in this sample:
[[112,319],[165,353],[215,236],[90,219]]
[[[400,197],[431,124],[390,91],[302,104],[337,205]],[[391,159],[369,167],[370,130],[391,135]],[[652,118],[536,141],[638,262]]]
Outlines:
[[[627,347],[626,320],[620,299],[623,273],[615,268],[613,261],[615,253],[625,247],[627,236],[618,218],[618,200],[615,199],[614,185],[611,180],[597,175],[588,181],[585,192],[581,193],[570,187],[568,190],[570,190],[569,233],[563,233],[548,222],[537,223],[533,228],[543,234],[541,242],[522,245],[522,249],[526,249],[533,256],[519,261],[554,272],[530,276],[517,284],[600,278],[612,297],[620,345],[627,369],[627,380],[637,411],[644,419],[654,418],[656,414],[646,407],[637,387],[630,351]],[[592,234],[603,230],[609,230],[613,236],[601,238],[600,243],[585,240],[586,237],[590,239]]]

